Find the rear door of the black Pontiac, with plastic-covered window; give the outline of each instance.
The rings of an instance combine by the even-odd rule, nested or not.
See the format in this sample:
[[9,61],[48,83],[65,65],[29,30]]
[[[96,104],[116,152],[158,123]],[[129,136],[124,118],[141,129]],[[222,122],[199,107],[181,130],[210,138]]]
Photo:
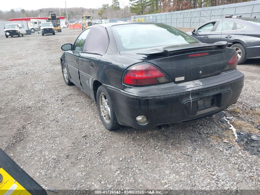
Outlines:
[[[89,30],[89,29],[87,29]],[[82,87],[92,96],[92,79],[96,72],[98,62],[106,53],[109,45],[109,36],[103,26],[94,25],[86,38],[82,53],[78,58],[79,75]]]

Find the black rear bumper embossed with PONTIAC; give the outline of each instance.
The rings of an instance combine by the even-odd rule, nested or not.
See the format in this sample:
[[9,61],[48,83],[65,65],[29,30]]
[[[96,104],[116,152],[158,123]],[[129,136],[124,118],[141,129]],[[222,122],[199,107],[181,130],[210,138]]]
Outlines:
[[[186,92],[177,90],[175,93],[171,91],[168,94],[163,93],[164,95],[159,93],[157,96],[140,97],[138,94],[133,95],[110,86],[106,87],[118,123],[148,129],[162,124],[196,120],[220,112],[237,102],[243,85],[244,75],[241,73],[210,87],[194,87]],[[141,115],[147,117],[146,124],[137,123],[136,117]]]

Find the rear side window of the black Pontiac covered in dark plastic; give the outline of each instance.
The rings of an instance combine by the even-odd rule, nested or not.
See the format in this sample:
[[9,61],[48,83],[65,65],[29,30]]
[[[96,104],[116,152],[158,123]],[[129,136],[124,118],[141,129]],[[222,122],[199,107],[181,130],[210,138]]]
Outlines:
[[83,51],[104,55],[109,45],[109,36],[104,26],[95,25],[91,28],[86,39]]

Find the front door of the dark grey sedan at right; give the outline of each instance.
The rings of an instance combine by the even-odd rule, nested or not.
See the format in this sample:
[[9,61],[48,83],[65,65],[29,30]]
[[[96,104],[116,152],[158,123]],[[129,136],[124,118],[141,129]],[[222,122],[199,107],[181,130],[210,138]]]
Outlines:
[[195,39],[198,39],[202,43],[208,43],[209,37],[211,35],[212,30],[214,29],[214,25],[216,24],[216,21],[209,22],[204,24],[203,26],[200,26],[197,30],[195,35],[192,35]]

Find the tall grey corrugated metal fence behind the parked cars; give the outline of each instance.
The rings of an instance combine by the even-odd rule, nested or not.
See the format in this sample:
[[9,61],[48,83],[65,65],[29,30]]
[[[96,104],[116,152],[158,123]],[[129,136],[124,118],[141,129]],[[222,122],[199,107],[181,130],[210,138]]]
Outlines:
[[260,18],[260,0],[192,10],[138,15],[132,16],[132,19],[136,21],[138,18],[144,18],[145,22],[160,22],[174,27],[195,28],[207,21],[224,18],[226,15],[256,16]]

